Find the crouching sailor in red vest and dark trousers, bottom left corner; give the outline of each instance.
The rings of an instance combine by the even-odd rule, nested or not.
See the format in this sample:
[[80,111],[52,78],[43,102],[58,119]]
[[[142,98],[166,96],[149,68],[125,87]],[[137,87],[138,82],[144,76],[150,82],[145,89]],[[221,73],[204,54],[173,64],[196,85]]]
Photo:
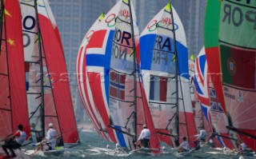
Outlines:
[[16,157],[14,149],[20,148],[23,142],[26,141],[26,133],[23,131],[23,125],[18,125],[18,131],[14,133],[14,135],[6,137],[4,141],[6,141],[6,143],[5,145],[2,145],[2,149],[6,153],[6,157],[10,157],[7,149],[10,149],[10,152],[13,155],[12,157]]

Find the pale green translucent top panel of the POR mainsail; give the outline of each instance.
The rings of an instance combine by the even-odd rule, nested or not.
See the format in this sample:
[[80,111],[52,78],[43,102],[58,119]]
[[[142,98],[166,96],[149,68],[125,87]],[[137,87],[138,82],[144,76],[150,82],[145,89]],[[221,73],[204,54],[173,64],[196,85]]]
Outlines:
[[234,46],[256,49],[256,1],[223,1],[219,37]]

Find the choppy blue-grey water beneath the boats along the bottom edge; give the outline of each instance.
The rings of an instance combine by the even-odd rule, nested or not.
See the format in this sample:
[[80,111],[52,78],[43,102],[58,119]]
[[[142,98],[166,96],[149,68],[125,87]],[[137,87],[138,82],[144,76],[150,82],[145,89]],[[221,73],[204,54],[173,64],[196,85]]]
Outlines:
[[[190,153],[189,155],[186,156],[177,156],[172,153],[166,153],[166,154],[161,154],[158,156],[153,156],[150,154],[145,154],[145,153],[133,153],[128,157],[113,157],[110,155],[107,155],[106,153],[101,153],[101,152],[91,152],[86,149],[93,149],[94,147],[100,147],[100,148],[106,148],[106,145],[110,145],[110,149],[114,149],[114,144],[106,142],[102,137],[98,137],[98,133],[94,132],[81,132],[80,133],[80,138],[81,138],[81,145],[78,145],[72,149],[66,150],[62,154],[58,155],[50,155],[50,156],[31,156],[30,158],[47,158],[47,159],[54,159],[54,158],[68,158],[68,159],[77,159],[77,158],[104,158],[104,159],[113,159],[113,158],[161,158],[161,159],[173,159],[173,158],[239,158],[238,156],[227,156],[227,155],[214,155],[214,154],[208,154],[208,153],[202,153],[202,152],[197,152],[197,153]],[[166,148],[168,151],[169,149]],[[202,149],[201,151],[209,151],[210,149]],[[256,157],[247,157],[243,156],[244,158],[256,158]]]

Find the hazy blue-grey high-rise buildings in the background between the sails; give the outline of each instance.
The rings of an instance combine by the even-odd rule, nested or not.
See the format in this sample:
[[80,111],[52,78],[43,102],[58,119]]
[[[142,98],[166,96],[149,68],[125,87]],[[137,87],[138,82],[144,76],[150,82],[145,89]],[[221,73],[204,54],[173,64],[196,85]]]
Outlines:
[[[75,62],[78,47],[86,31],[105,12],[107,13],[118,0],[50,0],[50,6],[58,24],[64,46],[66,65],[70,74],[70,88],[77,119],[85,114],[75,79]],[[140,32],[150,19],[162,10],[170,0],[132,0]],[[172,0],[186,31],[187,46],[190,54],[198,54],[203,46],[203,22],[206,0]]]

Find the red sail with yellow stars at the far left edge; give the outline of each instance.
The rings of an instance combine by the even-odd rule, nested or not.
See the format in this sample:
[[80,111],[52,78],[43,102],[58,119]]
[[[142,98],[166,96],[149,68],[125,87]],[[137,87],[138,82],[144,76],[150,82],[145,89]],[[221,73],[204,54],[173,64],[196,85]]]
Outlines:
[[1,1],[0,138],[13,134],[18,125],[30,137],[22,47],[22,19],[17,0]]

